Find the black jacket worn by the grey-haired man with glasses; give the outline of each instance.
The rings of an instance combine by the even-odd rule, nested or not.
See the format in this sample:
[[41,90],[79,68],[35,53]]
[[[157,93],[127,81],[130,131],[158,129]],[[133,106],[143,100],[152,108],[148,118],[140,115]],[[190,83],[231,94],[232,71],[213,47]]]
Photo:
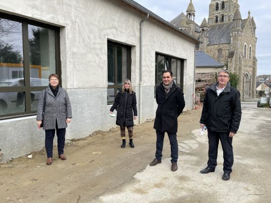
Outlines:
[[205,124],[208,130],[236,133],[242,116],[240,93],[228,82],[218,96],[217,84],[206,92],[200,123]]

